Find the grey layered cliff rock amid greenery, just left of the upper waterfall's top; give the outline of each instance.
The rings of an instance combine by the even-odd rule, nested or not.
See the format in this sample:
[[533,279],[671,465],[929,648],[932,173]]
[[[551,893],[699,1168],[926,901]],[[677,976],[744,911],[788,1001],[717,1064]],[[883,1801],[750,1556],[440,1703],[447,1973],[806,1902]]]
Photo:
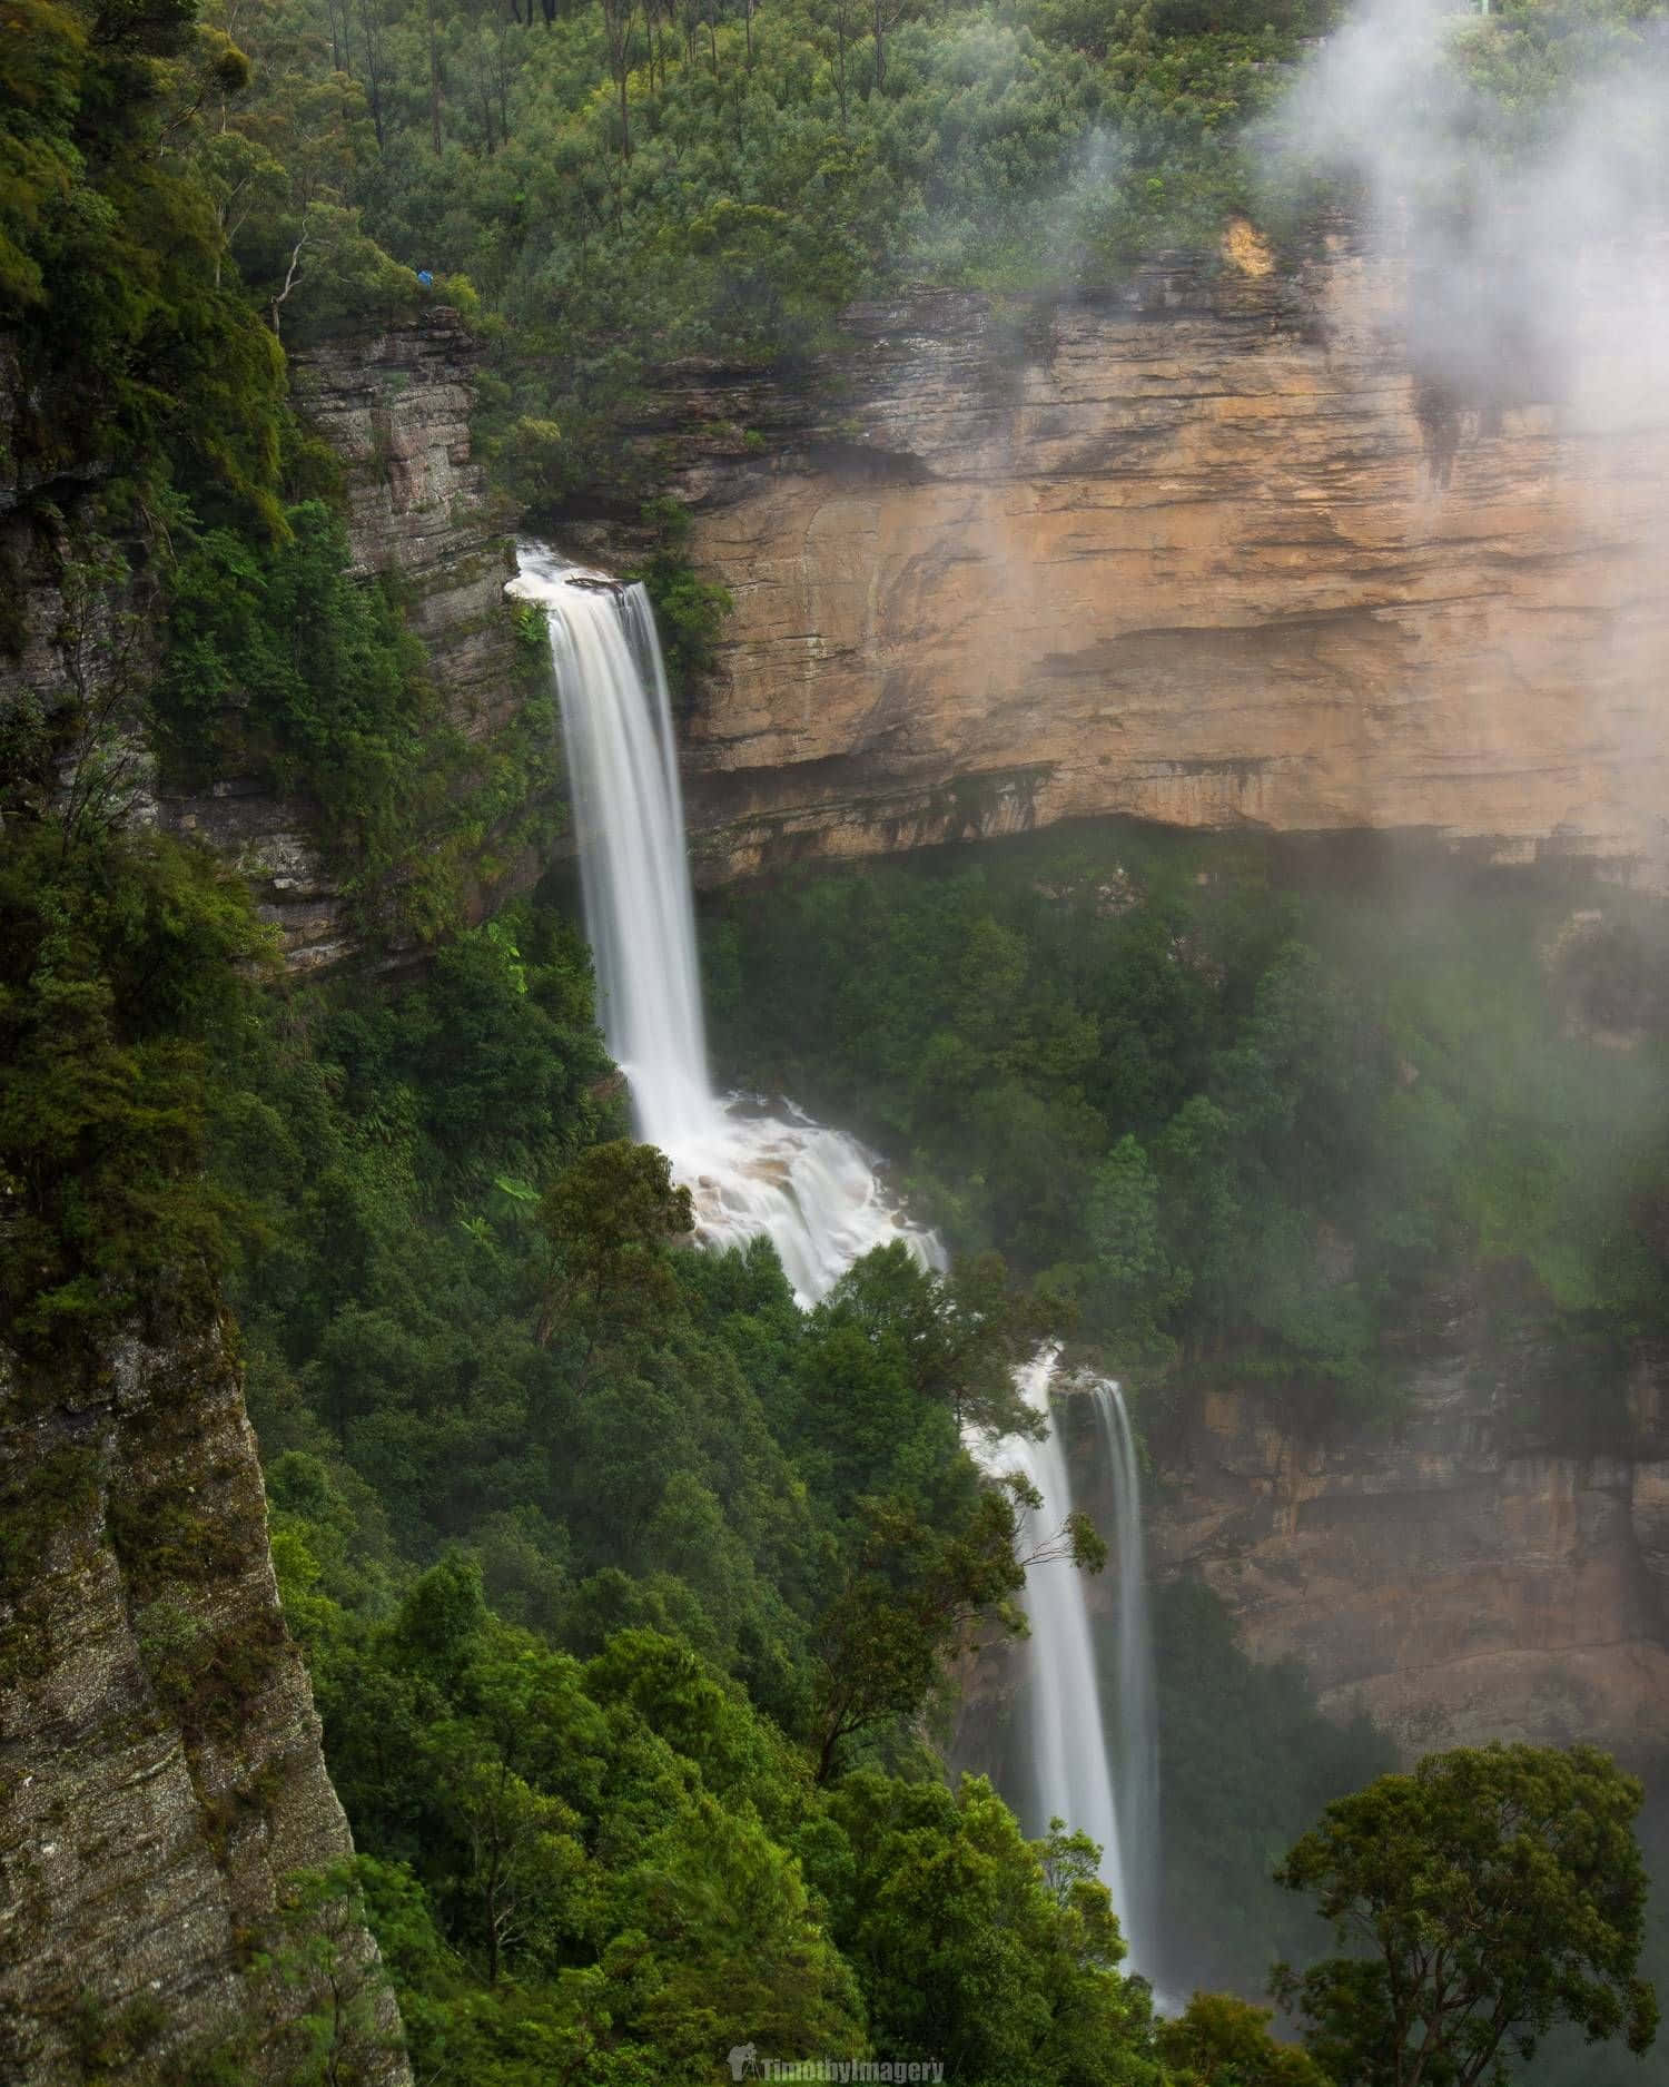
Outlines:
[[[478,359],[457,313],[436,307],[369,340],[300,351],[290,374],[303,415],[342,457],[359,572],[398,582],[451,720],[486,747],[509,722],[519,682],[503,599],[515,570],[507,518],[469,449]],[[223,776],[209,793],[171,799],[165,818],[250,879],[292,970],[353,954],[346,906],[305,806]]]

